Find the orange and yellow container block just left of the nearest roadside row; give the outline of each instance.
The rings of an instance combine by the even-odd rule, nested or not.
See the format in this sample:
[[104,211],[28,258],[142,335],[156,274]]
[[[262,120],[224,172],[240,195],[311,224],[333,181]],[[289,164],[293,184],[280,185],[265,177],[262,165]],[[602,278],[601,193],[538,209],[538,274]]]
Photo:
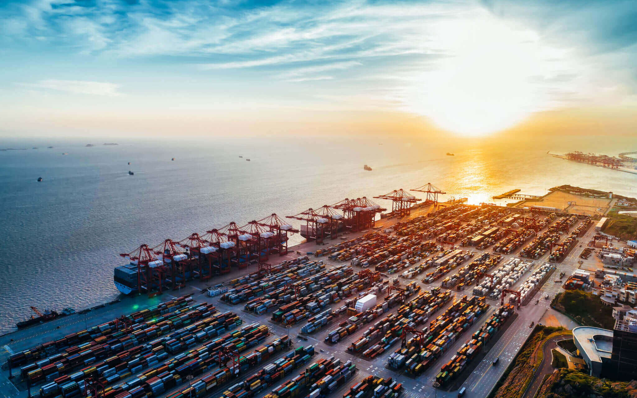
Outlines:
[[485,297],[468,296],[454,301],[443,315],[434,319],[424,336],[415,336],[389,356],[387,365],[419,376],[429,369],[487,309]]

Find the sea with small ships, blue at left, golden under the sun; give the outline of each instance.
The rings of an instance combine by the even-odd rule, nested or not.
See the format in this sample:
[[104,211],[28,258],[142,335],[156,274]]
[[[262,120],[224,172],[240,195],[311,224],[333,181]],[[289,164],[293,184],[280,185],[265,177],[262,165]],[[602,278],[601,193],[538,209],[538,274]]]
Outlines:
[[447,192],[443,199],[469,197],[475,204],[513,188],[543,195],[562,184],[637,196],[637,175],[547,154],[617,155],[637,149],[633,138],[326,136],[102,145],[110,141],[0,138],[0,148],[27,148],[0,152],[0,332],[28,318],[29,306],[79,310],[115,299],[113,267],[125,262],[119,253],[231,221],[244,225],[429,182]]

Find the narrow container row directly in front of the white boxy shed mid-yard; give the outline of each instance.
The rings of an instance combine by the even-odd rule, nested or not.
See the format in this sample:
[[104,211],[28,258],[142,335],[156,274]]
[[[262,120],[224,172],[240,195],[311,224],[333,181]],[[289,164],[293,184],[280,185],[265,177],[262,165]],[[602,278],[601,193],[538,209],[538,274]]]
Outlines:
[[[416,285],[415,283],[411,283],[404,290],[405,290],[405,298],[408,298],[411,295],[420,292],[420,286]],[[422,292],[419,293],[419,295],[415,299],[410,301],[410,304],[412,302],[420,302],[420,303],[424,302],[424,299],[422,299],[422,295],[423,295]],[[384,302],[376,304],[375,306],[373,306],[373,308],[369,308],[362,313],[356,313],[355,315],[350,316],[347,322],[340,323],[337,329],[327,333],[327,336],[325,337],[325,342],[336,343],[340,341],[342,338],[345,338],[345,336],[353,334],[354,332],[356,332],[356,330],[359,329],[361,325],[373,321],[375,318],[382,315],[382,313],[387,312],[389,308],[392,308],[394,305],[400,302],[402,300],[402,297],[399,297],[399,296],[400,296],[399,293],[391,294],[385,297]],[[412,305],[408,305],[408,307],[412,308]],[[406,308],[405,304],[399,307],[398,311],[402,312],[401,310],[403,310],[403,308]],[[392,315],[386,316],[380,322],[383,324],[387,322],[395,323],[396,319],[399,318],[400,316],[401,315],[392,314]]]

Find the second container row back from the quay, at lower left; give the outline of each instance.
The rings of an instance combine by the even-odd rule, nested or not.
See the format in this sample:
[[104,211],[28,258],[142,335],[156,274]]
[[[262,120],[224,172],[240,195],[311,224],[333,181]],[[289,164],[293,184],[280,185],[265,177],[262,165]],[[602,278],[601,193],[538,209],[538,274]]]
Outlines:
[[93,367],[89,365],[96,360],[117,355],[124,350],[140,345],[140,343],[166,334],[170,330],[207,318],[211,315],[211,311],[215,311],[215,306],[207,303],[179,309],[175,313],[161,316],[159,321],[150,320],[146,323],[138,323],[132,327],[129,334],[119,331],[111,334],[110,339],[106,336],[100,336],[90,342],[66,348],[64,353],[55,354],[47,359],[23,366],[20,371],[22,377],[28,378],[32,385],[38,381],[51,381],[60,378],[77,367],[88,366],[83,369],[86,373],[86,369]]

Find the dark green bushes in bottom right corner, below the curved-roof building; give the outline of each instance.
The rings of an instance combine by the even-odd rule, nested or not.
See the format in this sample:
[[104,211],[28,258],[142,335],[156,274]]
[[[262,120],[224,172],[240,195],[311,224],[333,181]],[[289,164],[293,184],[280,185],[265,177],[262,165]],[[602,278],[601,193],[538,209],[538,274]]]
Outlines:
[[637,394],[637,383],[598,379],[571,369],[560,369],[542,385],[538,397],[544,398],[628,398]]

